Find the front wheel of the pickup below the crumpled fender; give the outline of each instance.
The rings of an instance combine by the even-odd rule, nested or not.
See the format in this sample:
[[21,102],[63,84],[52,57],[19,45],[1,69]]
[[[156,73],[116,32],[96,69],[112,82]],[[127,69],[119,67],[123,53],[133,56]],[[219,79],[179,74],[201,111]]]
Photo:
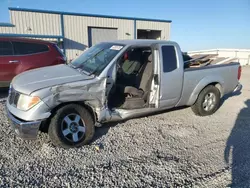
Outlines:
[[63,148],[80,147],[94,136],[93,117],[78,104],[69,104],[56,111],[49,125],[52,143]]

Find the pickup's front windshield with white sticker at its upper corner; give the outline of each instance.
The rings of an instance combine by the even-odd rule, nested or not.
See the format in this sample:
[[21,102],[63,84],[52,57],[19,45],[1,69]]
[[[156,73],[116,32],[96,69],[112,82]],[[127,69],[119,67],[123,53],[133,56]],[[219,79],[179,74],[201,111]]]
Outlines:
[[73,60],[74,68],[91,74],[100,74],[110,61],[121,51],[124,45],[99,43]]

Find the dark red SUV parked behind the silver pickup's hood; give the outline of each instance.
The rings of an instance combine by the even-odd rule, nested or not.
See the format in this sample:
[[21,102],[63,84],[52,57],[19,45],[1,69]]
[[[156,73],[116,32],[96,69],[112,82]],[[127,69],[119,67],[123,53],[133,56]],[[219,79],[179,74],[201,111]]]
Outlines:
[[0,87],[7,87],[21,72],[63,63],[66,57],[55,43],[0,37]]

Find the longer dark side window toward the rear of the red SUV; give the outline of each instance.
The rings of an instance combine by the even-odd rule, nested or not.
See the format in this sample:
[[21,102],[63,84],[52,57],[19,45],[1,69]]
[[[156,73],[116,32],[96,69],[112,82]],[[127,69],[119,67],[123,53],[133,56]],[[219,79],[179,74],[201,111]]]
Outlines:
[[49,47],[45,44],[12,41],[15,55],[28,55],[48,52]]

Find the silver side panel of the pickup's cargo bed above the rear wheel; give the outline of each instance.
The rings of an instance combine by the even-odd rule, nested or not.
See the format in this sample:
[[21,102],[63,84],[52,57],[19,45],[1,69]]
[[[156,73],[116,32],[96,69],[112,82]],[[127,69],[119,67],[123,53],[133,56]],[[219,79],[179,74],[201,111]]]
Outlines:
[[220,84],[221,96],[232,92],[238,84],[238,67],[238,64],[231,64],[186,70],[182,98],[177,106],[193,105],[201,90],[211,83]]

